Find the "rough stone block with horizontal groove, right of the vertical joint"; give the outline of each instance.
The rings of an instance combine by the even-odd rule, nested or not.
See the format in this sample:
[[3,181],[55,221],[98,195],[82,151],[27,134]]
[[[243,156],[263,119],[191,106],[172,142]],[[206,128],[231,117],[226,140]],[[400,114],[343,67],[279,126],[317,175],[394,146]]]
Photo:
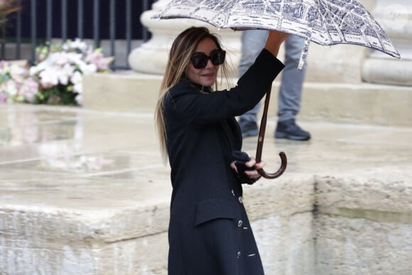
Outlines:
[[394,167],[318,177],[315,274],[411,274],[412,185]]

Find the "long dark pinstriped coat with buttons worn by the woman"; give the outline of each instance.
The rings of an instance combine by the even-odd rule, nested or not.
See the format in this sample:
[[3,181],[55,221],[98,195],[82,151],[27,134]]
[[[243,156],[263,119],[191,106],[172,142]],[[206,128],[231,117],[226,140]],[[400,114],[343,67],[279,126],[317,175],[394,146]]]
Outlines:
[[182,81],[168,91],[163,114],[173,185],[169,275],[264,274],[242,184],[230,167],[232,151],[242,149],[234,117],[254,107],[282,69],[262,50],[231,90],[203,93]]

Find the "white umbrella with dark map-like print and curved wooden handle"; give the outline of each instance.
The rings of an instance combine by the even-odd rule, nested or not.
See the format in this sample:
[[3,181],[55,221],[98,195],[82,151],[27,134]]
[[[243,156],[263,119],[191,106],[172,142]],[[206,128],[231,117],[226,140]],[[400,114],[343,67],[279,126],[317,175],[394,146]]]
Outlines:
[[[273,29],[301,36],[305,45],[299,68],[305,64],[310,41],[362,45],[401,58],[379,23],[357,0],[172,0],[153,18],[193,18],[217,28]],[[256,162],[261,161],[270,91],[266,93]],[[285,153],[279,155],[281,168],[276,173],[261,170],[261,176],[281,176],[287,160]]]

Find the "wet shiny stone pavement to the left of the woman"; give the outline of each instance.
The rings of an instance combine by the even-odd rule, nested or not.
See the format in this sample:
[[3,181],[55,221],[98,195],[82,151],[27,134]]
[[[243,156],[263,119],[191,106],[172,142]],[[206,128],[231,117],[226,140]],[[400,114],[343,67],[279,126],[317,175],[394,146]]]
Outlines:
[[152,122],[152,114],[1,106],[1,204],[81,211],[167,198]]

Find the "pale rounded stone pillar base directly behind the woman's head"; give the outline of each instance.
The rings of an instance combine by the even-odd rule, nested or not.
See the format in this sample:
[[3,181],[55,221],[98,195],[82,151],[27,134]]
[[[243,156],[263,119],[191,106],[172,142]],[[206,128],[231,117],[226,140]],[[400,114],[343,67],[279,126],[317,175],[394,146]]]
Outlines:
[[205,26],[212,33],[217,33],[225,50],[227,50],[227,60],[232,70],[232,76],[237,76],[237,68],[241,53],[240,36],[241,32],[231,29],[218,30],[214,26],[193,19],[158,19],[152,18],[160,13],[170,0],[158,0],[153,4],[152,10],[145,11],[141,15],[141,23],[151,32],[152,37],[139,48],[129,54],[129,65],[136,72],[162,75],[168,60],[168,50],[175,37],[185,28],[190,26]]

